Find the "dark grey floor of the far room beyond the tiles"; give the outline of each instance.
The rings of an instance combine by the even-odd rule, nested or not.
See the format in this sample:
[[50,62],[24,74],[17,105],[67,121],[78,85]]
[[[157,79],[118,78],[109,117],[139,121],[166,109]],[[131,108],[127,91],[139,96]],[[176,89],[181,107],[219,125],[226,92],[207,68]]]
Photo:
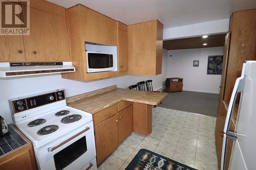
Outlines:
[[219,94],[182,91],[169,93],[159,107],[217,116]]

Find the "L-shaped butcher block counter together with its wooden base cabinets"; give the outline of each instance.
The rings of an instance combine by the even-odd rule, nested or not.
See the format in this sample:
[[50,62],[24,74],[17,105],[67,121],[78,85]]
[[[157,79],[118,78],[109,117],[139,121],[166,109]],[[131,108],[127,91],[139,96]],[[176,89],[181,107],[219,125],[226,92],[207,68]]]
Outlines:
[[152,133],[152,105],[167,93],[117,88],[116,85],[67,98],[70,107],[93,115],[97,164],[133,131]]

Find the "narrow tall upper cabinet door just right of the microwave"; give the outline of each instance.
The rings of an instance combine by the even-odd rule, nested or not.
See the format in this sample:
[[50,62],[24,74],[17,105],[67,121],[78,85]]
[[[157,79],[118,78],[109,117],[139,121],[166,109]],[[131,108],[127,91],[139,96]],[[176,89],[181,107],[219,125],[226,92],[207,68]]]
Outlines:
[[117,34],[118,34],[118,71],[128,70],[127,60],[127,26],[117,21]]

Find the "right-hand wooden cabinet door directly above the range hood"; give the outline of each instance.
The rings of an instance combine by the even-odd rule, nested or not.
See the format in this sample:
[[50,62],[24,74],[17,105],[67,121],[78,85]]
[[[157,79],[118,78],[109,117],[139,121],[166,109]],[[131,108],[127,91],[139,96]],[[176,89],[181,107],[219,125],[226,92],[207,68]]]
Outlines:
[[65,17],[30,8],[30,35],[24,43],[29,61],[70,61]]

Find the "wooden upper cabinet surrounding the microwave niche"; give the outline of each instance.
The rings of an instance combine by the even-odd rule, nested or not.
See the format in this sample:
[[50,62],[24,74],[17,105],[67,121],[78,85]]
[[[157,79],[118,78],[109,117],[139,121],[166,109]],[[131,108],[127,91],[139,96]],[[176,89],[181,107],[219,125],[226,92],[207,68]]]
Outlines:
[[[62,74],[62,78],[74,80],[94,80],[123,75],[126,73],[127,60],[125,59],[125,33],[120,33],[119,43],[122,71],[105,71],[87,73],[86,70],[86,42],[118,46],[118,23],[116,20],[93,11],[85,6],[77,5],[67,9],[67,26],[70,42],[71,60],[76,72]],[[127,51],[127,50],[126,50]],[[119,58],[119,52],[117,57]]]

